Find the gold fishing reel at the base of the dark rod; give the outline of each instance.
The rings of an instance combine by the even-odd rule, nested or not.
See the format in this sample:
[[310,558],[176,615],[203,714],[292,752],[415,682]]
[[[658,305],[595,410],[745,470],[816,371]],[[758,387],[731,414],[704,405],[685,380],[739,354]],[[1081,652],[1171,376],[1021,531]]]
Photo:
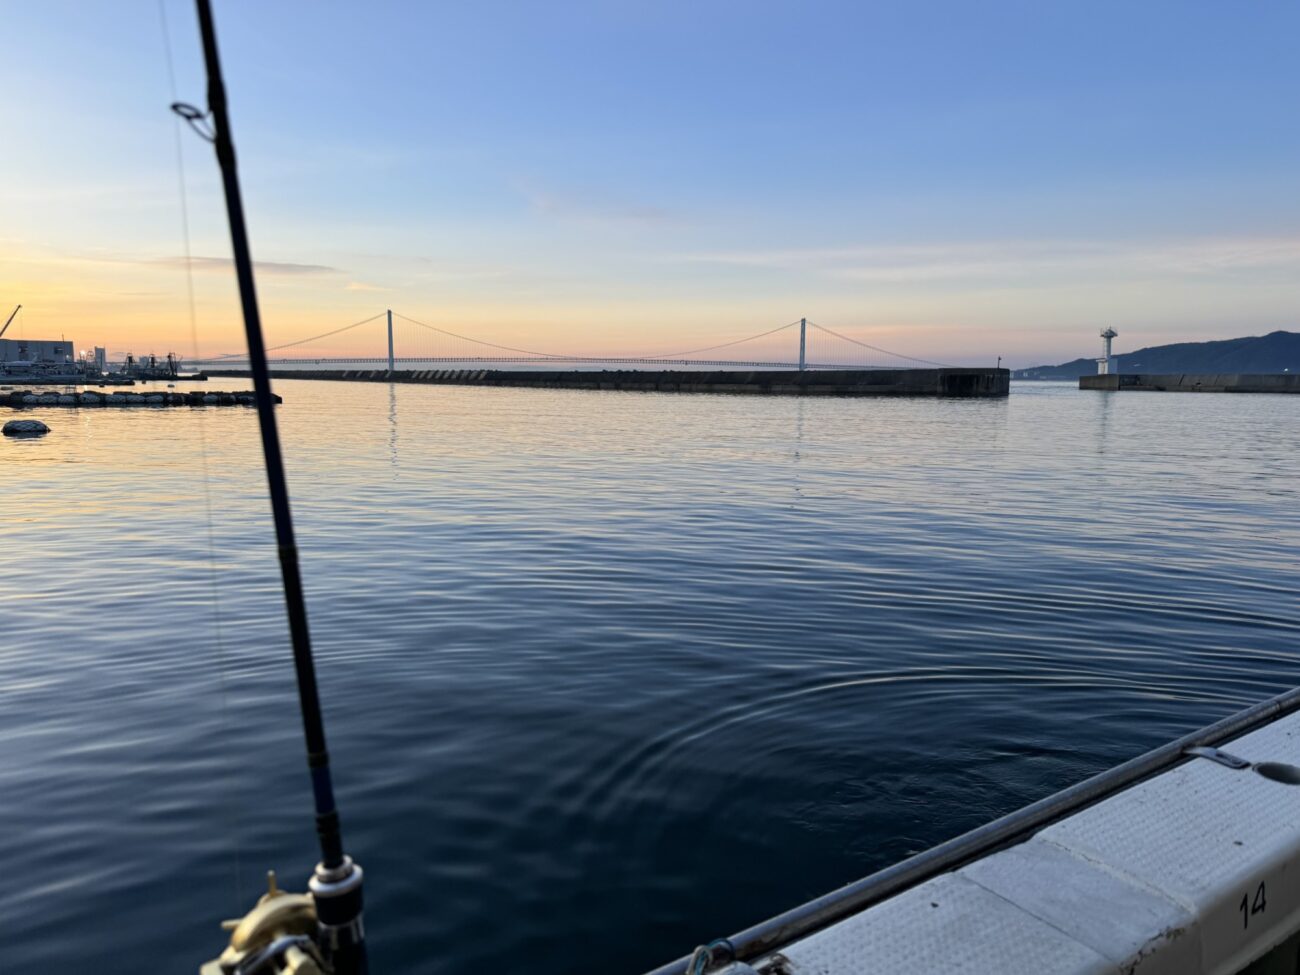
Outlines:
[[276,887],[266,874],[266,893],[239,920],[224,920],[230,944],[199,975],[333,975],[317,942],[316,900]]

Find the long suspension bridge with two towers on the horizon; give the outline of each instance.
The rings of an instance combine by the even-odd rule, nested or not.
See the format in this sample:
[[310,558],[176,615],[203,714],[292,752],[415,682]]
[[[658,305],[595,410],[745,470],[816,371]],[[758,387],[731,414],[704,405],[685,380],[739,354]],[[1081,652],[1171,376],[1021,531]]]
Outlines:
[[[698,348],[646,355],[592,355],[519,348],[385,309],[351,325],[266,350],[273,369],[387,367],[389,372],[432,367],[595,369],[915,369],[944,363],[893,352],[807,318]],[[870,360],[870,361],[868,361]],[[195,368],[247,368],[247,352],[191,359]]]

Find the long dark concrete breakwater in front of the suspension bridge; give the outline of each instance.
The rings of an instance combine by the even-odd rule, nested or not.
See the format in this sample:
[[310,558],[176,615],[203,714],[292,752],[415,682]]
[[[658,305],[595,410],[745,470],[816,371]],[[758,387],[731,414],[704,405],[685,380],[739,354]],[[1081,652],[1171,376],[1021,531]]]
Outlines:
[[[209,370],[209,376],[244,376]],[[629,390],[644,393],[729,393],[794,396],[1005,396],[1008,369],[824,369],[797,372],[715,370],[510,370],[510,369],[280,369],[277,380],[419,382],[455,386]]]

